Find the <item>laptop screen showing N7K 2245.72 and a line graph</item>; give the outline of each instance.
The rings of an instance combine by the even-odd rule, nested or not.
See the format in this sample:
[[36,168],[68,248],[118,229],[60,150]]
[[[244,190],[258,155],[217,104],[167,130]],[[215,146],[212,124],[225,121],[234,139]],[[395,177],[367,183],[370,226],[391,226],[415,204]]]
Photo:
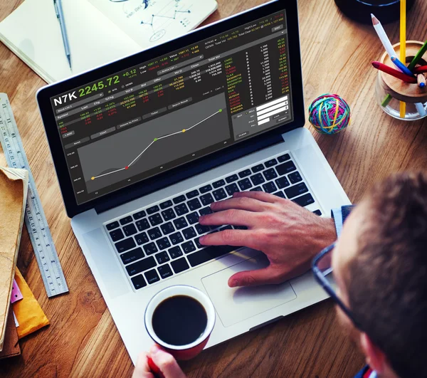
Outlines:
[[292,122],[289,75],[280,11],[51,98],[77,203]]

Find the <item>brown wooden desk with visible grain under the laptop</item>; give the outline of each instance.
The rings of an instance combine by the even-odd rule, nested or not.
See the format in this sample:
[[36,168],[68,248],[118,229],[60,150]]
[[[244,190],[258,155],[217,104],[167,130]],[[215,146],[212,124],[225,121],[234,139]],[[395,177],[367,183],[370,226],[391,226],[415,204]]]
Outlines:
[[[209,21],[263,2],[218,0],[219,10]],[[19,4],[21,0],[1,1],[0,20]],[[408,15],[408,38],[426,39],[426,16],[427,4],[418,1]],[[352,107],[353,122],[346,132],[315,134],[350,199],[358,201],[367,187],[391,172],[425,168],[427,123],[394,120],[374,100],[376,71],[370,62],[383,51],[374,29],[345,19],[332,0],[300,0],[300,31],[306,105],[317,95],[332,92]],[[386,26],[386,31],[391,41],[399,41],[397,23]],[[34,97],[42,85],[43,80],[0,46],[0,91],[9,95],[14,108],[70,293],[46,297],[24,231],[19,268],[51,326],[22,340],[21,357],[0,362],[0,375],[130,377],[132,362],[63,209]],[[363,363],[342,335],[332,303],[326,301],[213,347],[182,367],[189,377],[354,377]]]

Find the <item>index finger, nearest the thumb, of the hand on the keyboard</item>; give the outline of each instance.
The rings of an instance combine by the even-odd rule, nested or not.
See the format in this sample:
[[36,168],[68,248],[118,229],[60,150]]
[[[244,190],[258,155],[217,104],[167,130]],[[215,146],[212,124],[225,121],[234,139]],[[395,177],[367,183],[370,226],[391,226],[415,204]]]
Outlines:
[[245,246],[258,249],[254,232],[246,230],[224,230],[209,233],[200,238],[200,243],[204,246]]

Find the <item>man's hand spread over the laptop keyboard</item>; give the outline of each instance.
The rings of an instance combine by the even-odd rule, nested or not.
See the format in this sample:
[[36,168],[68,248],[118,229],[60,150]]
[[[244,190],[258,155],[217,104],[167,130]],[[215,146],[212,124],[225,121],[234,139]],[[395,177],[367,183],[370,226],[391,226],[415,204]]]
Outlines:
[[243,191],[232,199],[211,204],[214,214],[200,224],[231,224],[248,230],[225,230],[200,238],[205,246],[246,246],[262,251],[270,265],[258,271],[236,273],[228,285],[282,283],[305,273],[312,258],[337,238],[332,219],[320,218],[288,199],[263,191]]

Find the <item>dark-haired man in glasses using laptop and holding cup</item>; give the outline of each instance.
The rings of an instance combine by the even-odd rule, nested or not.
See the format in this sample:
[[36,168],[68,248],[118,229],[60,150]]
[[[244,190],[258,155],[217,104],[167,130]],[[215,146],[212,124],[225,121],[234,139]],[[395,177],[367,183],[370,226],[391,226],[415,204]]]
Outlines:
[[[366,357],[357,377],[427,377],[427,174],[395,174],[357,206],[340,233],[340,212],[316,218],[290,201],[260,192],[212,204],[201,224],[248,230],[206,236],[206,245],[246,245],[263,251],[270,266],[233,275],[231,286],[280,283],[307,271],[337,303],[337,317]],[[345,213],[345,211],[344,211]],[[345,214],[344,214],[345,218]],[[308,232],[307,232],[308,231]],[[290,252],[292,251],[292,252]],[[337,290],[325,275],[331,271]],[[154,346],[149,356],[166,378],[184,378],[172,356]],[[134,377],[152,378],[142,353]]]

